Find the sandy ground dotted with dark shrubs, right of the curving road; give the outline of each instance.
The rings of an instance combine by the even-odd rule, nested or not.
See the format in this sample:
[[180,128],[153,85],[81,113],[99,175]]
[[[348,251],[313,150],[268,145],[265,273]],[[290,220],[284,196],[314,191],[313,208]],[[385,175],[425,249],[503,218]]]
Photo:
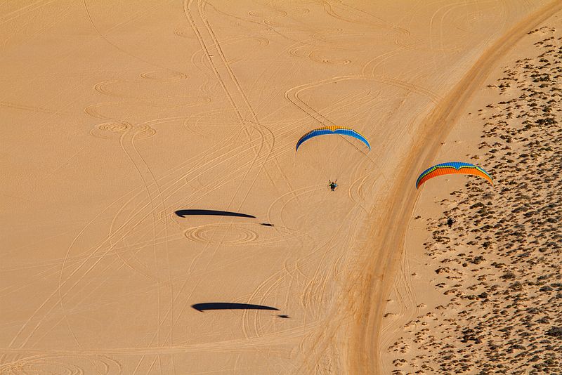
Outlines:
[[384,314],[384,373],[562,369],[559,14],[504,55],[441,145],[437,161],[473,160],[495,187],[450,176],[421,189]]

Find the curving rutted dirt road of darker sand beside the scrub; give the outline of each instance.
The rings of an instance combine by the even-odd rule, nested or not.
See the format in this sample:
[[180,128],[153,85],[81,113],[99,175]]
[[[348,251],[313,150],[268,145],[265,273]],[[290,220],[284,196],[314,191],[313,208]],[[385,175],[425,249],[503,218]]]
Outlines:
[[[396,178],[391,196],[397,197],[384,207],[380,223],[384,228],[396,228],[389,232],[381,226],[372,225],[369,237],[378,244],[374,256],[365,266],[365,275],[353,283],[358,284],[359,294],[363,297],[360,310],[353,315],[355,327],[353,342],[348,352],[349,374],[379,374],[379,333],[385,300],[393,284],[393,274],[403,256],[403,244],[407,225],[399,225],[410,220],[417,191],[412,187],[412,176],[431,163],[438,152],[440,143],[457,123],[462,110],[476,90],[490,74],[497,58],[507,53],[516,42],[533,27],[540,24],[552,14],[562,10],[561,1],[553,1],[539,11],[528,16],[507,34],[499,38],[476,61],[459,84],[450,91],[420,125],[419,138],[412,147],[403,169]],[[352,294],[353,295],[353,294]],[[351,301],[350,301],[351,305]],[[374,334],[375,333],[375,334]]]

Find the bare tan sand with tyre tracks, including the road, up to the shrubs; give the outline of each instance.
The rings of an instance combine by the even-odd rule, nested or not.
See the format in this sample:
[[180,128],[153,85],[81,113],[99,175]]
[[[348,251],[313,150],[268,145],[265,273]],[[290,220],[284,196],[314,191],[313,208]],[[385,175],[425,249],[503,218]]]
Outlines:
[[561,6],[1,3],[0,372],[387,374],[413,181]]

